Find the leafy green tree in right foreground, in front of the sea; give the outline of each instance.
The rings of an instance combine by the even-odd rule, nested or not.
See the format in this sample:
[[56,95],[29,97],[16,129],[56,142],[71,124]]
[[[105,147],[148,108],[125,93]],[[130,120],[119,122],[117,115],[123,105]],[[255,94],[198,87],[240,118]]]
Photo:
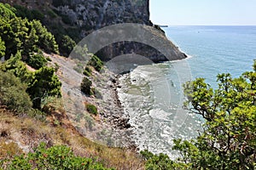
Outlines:
[[256,62],[253,69],[238,78],[218,75],[216,90],[203,78],[184,85],[184,106],[205,123],[195,140],[174,140],[180,161],[192,169],[256,167]]

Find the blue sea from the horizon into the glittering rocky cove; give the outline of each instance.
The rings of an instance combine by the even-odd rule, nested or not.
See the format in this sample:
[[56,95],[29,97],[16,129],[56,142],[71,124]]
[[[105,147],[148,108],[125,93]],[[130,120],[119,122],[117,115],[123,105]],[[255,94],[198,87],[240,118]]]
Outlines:
[[216,76],[239,77],[253,70],[256,26],[169,26],[166,36],[188,59],[140,65],[120,77],[119,99],[130,116],[132,139],[140,150],[177,157],[173,139],[193,139],[202,129],[200,116],[183,108],[183,83]]

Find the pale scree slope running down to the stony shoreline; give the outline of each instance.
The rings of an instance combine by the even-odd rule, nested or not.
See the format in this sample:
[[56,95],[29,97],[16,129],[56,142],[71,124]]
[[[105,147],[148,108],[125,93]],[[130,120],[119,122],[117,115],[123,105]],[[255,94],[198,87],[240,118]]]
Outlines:
[[[84,75],[75,71],[78,62],[62,58],[58,55],[48,55],[52,59],[51,65],[58,65],[57,76],[62,87],[62,99],[65,111],[73,127],[85,138],[99,144],[113,147],[125,147],[137,150],[131,139],[133,128],[129,123],[129,116],[119,100],[119,76],[104,68],[101,73],[93,71],[90,80],[92,87],[102,94],[101,98],[86,96],[80,91],[80,83]],[[90,115],[84,104],[96,105],[97,116]]]

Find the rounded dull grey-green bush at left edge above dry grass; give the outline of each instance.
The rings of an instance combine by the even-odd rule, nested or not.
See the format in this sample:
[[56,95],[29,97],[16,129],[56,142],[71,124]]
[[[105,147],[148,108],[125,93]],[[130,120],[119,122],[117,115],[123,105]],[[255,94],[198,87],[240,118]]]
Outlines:
[[32,101],[26,94],[26,85],[12,73],[0,71],[0,105],[22,113],[32,109]]

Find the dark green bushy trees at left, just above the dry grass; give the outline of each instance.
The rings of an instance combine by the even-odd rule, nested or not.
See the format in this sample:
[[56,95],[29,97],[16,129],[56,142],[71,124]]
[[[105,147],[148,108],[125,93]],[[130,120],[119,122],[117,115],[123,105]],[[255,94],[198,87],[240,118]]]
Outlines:
[[55,76],[54,68],[43,66],[38,71],[28,71],[20,58],[20,53],[17,53],[1,64],[0,70],[13,73],[26,84],[26,93],[34,108],[41,109],[41,101],[48,96],[61,96],[61,82]]

